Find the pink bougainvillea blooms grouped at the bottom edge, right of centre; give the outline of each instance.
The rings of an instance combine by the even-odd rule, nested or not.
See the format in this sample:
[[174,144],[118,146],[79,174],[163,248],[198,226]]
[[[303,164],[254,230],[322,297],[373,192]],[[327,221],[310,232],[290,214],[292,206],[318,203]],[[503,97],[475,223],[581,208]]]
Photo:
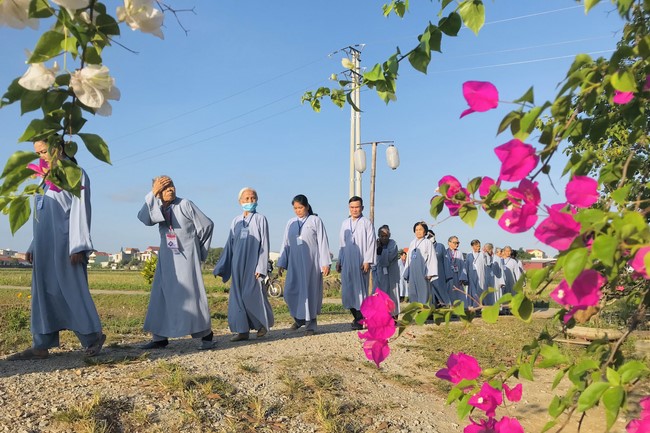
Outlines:
[[[465,353],[452,353],[447,358],[447,368],[436,372],[436,377],[458,384],[463,380],[475,380],[481,375],[481,367],[476,358]],[[466,390],[469,388],[466,388]],[[503,417],[500,420],[495,418],[496,408],[503,404],[503,394],[509,401],[521,400],[522,385],[517,384],[510,388],[503,384],[503,390],[494,388],[489,383],[484,383],[480,391],[472,395],[468,401],[471,406],[482,410],[488,417],[484,420],[475,421],[470,417],[470,422],[463,430],[464,433],[523,433],[524,429],[516,418]]]

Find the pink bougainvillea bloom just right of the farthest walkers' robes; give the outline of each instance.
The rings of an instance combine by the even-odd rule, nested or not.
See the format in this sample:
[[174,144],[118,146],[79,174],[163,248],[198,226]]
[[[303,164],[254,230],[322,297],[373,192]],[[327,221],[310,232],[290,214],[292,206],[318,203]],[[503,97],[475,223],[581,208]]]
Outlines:
[[598,305],[602,297],[600,288],[605,284],[607,284],[607,278],[598,271],[585,269],[571,285],[566,280],[560,281],[560,284],[551,292],[551,298],[565,307],[572,306],[576,310],[585,309]]

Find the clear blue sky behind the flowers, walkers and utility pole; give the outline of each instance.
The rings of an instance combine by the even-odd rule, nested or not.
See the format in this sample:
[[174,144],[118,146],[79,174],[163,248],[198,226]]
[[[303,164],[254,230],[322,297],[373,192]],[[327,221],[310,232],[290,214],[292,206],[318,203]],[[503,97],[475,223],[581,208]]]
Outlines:
[[[106,3],[114,10],[116,2]],[[174,5],[190,3],[195,13],[179,14],[188,35],[168,14],[164,41],[122,26],[118,42],[137,54],[117,44],[105,51],[104,64],[122,98],[112,104],[112,116],[90,118],[85,132],[108,142],[113,165],[97,162],[85,149],[77,156],[91,178],[95,248],[115,252],[158,244],[157,230],[143,226],[136,215],[151,179],[167,174],[178,195],[215,222],[213,247],[223,246],[230,221],[240,212],[237,193],[252,186],[259,193],[258,211],[269,220],[273,251],[279,250],[286,222],[294,216],[292,197],[305,194],[337,255],[339,229],[348,215],[350,109],[326,103],[314,113],[300,104],[300,97],[333,84],[328,78],[342,71],[343,53],[328,55],[340,48],[365,44],[361,65],[368,69],[396,46],[402,52],[411,49],[428,21],[437,22],[438,2],[411,2],[402,20],[383,17],[382,2]],[[479,175],[496,178],[493,149],[512,138],[495,135],[500,120],[515,107],[506,101],[530,86],[536,102],[553,98],[576,54],[609,57],[621,21],[609,2],[588,16],[570,0],[499,0],[486,2],[486,10],[478,37],[463,29],[457,38],[443,38],[443,53],[434,54],[427,75],[402,65],[396,103],[386,105],[374,92],[362,92],[361,141],[394,140],[401,160],[391,171],[385,147],[379,147],[375,226],[388,224],[400,246],[412,239],[413,224],[424,220],[435,223],[439,240],[459,236],[463,251],[478,238],[554,254],[532,231],[505,233],[485,214],[474,228],[455,218],[434,221],[429,199],[446,174],[463,184]],[[24,49],[32,49],[39,34],[0,28],[2,92],[26,70]],[[461,86],[467,80],[494,83],[499,108],[459,119],[466,108]],[[31,118],[20,117],[19,104],[0,110],[0,160],[30,149],[17,138]],[[564,200],[562,167],[557,161],[551,172],[558,192],[549,179],[539,178],[543,203]],[[363,176],[366,214],[369,179],[368,169]],[[0,247],[24,251],[30,240],[31,222],[12,237],[7,217],[0,216]]]

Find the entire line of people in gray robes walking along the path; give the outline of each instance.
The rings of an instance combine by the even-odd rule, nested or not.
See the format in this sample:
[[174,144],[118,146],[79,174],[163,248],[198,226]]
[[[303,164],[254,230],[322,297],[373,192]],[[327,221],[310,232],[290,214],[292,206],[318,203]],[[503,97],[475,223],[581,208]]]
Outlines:
[[[34,237],[27,252],[32,274],[32,347],[9,356],[9,360],[45,359],[49,349],[58,347],[59,332],[72,330],[84,347],[85,356],[102,350],[106,335],[88,288],[87,261],[93,251],[90,237],[90,181],[81,171],[80,195],[58,188],[49,177],[49,168],[59,161],[75,164],[65,153],[61,140],[37,141],[34,149],[39,166],[36,175],[44,178],[42,193],[35,196]],[[33,164],[30,164],[32,166]],[[36,167],[36,166],[34,166]],[[238,195],[242,212],[230,224],[228,238],[214,267],[215,277],[230,281],[228,326],[231,341],[248,340],[251,331],[264,337],[274,325],[264,278],[269,272],[269,228],[266,217],[257,211],[255,189],[243,188]],[[307,335],[317,332],[317,316],[323,302],[323,277],[330,272],[332,255],[325,226],[314,213],[306,196],[291,201],[295,217],[286,225],[279,273],[286,270],[284,299],[293,318],[292,330],[305,327]],[[374,231],[363,215],[363,200],[348,201],[349,216],[341,224],[340,250],[336,269],[341,277],[342,304],[352,314],[352,328],[362,329],[361,303],[370,294],[370,278],[378,290],[395,302],[399,314],[404,280],[410,301],[450,305],[458,299],[477,305],[487,287],[511,290],[521,273],[514,266],[508,247],[503,257],[493,258],[488,245],[467,260],[458,251],[458,238],[449,239],[445,250],[428,237],[425,223],[416,223],[415,239],[404,257],[391,239],[388,226]],[[201,263],[207,259],[214,224],[190,200],[178,197],[173,180],[159,176],[138,212],[147,226],[158,226],[160,251],[144,330],[151,340],[144,350],[162,349],[170,338],[190,335],[200,340],[199,350],[214,347],[210,308],[205,292]],[[478,243],[476,247],[475,242]],[[402,264],[403,266],[400,266]],[[400,270],[403,268],[403,271]],[[467,284],[468,289],[463,285]],[[487,297],[486,297],[487,300]],[[484,304],[490,301],[484,300]]]

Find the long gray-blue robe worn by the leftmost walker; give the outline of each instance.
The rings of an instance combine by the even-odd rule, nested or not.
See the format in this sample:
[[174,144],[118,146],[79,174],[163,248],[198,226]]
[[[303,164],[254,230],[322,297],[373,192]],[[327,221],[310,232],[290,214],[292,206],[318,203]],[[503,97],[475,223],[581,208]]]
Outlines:
[[90,180],[82,171],[81,197],[48,186],[35,196],[32,254],[32,334],[63,329],[80,334],[101,332],[97,309],[88,290],[85,263],[73,265],[70,256],[90,255]]

